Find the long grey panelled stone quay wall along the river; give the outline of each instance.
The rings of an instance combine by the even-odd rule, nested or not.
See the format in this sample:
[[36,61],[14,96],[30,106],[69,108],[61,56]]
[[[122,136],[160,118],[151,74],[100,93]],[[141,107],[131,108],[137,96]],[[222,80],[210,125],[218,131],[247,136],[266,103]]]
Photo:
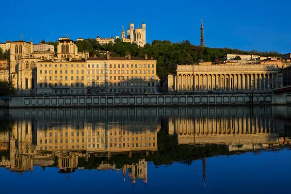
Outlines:
[[[253,103],[252,103],[253,99]],[[273,105],[291,103],[291,94],[276,103],[274,94],[191,94],[132,96],[14,96],[9,107],[126,107],[195,105]],[[289,100],[289,101],[288,101]]]

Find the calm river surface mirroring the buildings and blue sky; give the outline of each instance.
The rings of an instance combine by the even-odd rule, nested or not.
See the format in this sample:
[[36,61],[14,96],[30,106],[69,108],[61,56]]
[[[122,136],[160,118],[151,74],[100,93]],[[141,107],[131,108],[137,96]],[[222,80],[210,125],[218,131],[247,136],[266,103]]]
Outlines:
[[290,192],[291,107],[0,109],[0,193]]

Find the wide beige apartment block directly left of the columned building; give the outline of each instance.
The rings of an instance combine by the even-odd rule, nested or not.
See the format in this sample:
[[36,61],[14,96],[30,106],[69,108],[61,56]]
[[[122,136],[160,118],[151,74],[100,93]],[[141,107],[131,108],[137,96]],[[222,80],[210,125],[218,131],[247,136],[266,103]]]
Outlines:
[[160,79],[154,59],[134,57],[92,57],[87,62],[87,92],[155,92]]

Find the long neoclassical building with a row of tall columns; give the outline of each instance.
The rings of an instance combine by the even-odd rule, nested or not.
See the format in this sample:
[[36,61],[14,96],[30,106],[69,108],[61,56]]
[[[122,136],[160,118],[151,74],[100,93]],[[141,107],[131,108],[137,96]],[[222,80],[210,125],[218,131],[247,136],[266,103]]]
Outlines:
[[186,91],[268,91],[282,84],[277,65],[177,65],[177,74],[169,74],[165,90]]

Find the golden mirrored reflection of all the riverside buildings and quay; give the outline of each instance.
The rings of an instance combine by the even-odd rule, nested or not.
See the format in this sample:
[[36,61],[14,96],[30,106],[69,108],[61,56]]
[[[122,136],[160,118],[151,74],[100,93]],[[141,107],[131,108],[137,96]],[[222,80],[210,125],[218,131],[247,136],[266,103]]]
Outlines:
[[[291,111],[278,107],[12,109],[0,115],[7,112],[11,124],[0,130],[0,153],[6,153],[1,167],[23,173],[33,166],[54,166],[68,176],[77,169],[116,170],[132,184],[136,179],[147,183],[146,160],[155,160],[158,141],[164,141],[158,140],[160,130],[178,145],[226,145],[228,154],[283,147],[291,134],[286,119]],[[119,161],[111,161],[116,155],[131,159],[135,153],[144,158],[118,166]],[[86,167],[92,157],[106,160]],[[200,158],[204,184],[206,157]]]

